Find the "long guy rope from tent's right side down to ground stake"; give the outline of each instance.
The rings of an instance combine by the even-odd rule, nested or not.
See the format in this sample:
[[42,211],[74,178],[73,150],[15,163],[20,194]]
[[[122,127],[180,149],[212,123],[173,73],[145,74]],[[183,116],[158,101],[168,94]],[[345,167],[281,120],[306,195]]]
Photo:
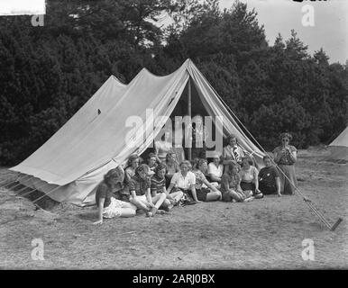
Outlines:
[[[242,121],[240,121],[240,120],[238,119],[238,117],[234,114],[234,112],[232,111],[232,109],[224,102],[224,100],[221,98],[221,96],[220,96],[219,94],[217,94],[217,92],[215,91],[214,87],[212,87],[211,85],[210,85],[210,87],[214,90],[215,94],[216,94],[217,97],[220,99],[220,101],[221,101],[222,103],[224,103],[224,106],[227,108],[227,110],[228,110],[229,112],[231,112],[231,113],[234,115],[235,119],[243,126],[244,130],[246,130],[246,131],[248,132],[248,134],[249,134],[249,135],[251,136],[251,138],[255,141],[255,143],[259,146],[259,148],[261,148],[261,151],[267,155],[267,152],[265,151],[264,148],[262,148],[262,146],[261,146],[261,144],[258,142],[258,140],[255,139],[255,138],[252,136],[252,133],[243,125]],[[317,216],[320,220],[323,221],[323,223],[325,224],[325,226],[326,226],[328,229],[334,231],[334,229],[337,228],[337,226],[342,222],[343,219],[342,219],[342,218],[339,218],[339,219],[334,223],[334,225],[330,225],[330,223],[329,223],[327,220],[325,220],[324,215],[322,215],[319,211],[317,211],[316,208],[313,207],[313,205],[309,205],[309,204],[308,204],[308,198],[305,197],[304,194],[301,193],[301,192],[299,191],[298,187],[295,186],[295,184],[293,184],[292,182],[290,182],[288,176],[285,175],[285,173],[284,173],[283,171],[281,171],[281,169],[279,168],[279,166],[277,165],[277,163],[275,163],[274,160],[273,160],[272,158],[270,158],[270,160],[271,160],[272,164],[275,165],[275,166],[279,169],[280,173],[286,177],[286,179],[288,180],[288,182],[295,188],[295,191],[298,192],[298,194],[302,196],[303,200],[305,200],[305,202],[307,203],[307,206],[308,206],[312,211],[314,211],[314,212],[316,213],[316,216]],[[309,201],[312,202],[311,200],[309,200]],[[312,202],[312,203],[313,203],[313,202]]]

